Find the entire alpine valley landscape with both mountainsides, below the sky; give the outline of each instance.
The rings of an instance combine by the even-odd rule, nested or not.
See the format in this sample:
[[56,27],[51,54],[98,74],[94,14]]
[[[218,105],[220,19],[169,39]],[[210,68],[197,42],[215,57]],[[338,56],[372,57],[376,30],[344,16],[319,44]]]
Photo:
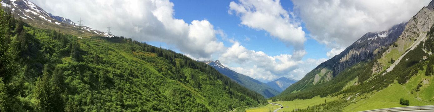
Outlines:
[[53,15],[29,0],[0,1],[0,112],[359,112],[434,105],[434,0],[408,21],[351,42],[301,80],[268,83],[230,70],[222,59],[195,61]]

